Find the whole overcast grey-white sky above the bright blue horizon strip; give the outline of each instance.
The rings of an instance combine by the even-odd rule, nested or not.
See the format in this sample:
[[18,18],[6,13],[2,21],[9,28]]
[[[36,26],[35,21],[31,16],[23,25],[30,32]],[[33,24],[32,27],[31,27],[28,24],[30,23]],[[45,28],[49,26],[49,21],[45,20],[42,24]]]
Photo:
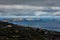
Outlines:
[[0,0],[0,16],[60,16],[60,0]]

